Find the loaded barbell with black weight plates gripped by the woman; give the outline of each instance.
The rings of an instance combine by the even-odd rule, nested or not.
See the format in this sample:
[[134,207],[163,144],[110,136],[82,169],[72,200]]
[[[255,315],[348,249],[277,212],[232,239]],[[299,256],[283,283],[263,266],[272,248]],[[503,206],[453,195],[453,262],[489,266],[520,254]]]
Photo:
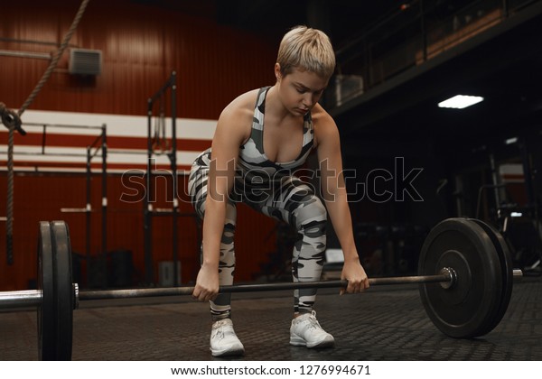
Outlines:
[[[79,291],[71,280],[68,225],[42,221],[38,237],[38,289],[0,291],[0,309],[37,307],[38,352],[42,360],[70,360],[73,310],[81,300],[191,295],[193,287]],[[445,335],[485,335],[504,316],[514,280],[509,248],[500,233],[472,218],[448,218],[425,238],[417,276],[369,278],[370,285],[419,284],[429,319]],[[220,286],[220,292],[345,288],[347,281],[283,282]]]

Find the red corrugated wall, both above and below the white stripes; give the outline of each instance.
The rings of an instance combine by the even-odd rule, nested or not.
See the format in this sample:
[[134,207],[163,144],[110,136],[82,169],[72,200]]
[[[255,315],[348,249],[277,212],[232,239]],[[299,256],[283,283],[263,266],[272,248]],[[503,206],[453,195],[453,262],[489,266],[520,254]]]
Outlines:
[[[6,41],[38,40],[60,43],[77,12],[79,2],[22,0],[2,5],[0,50],[51,52],[55,46]],[[94,79],[67,72],[66,52],[51,79],[29,109],[118,115],[145,115],[146,99],[177,72],[179,117],[217,119],[229,101],[245,90],[272,84],[278,42],[214,22],[214,10],[191,15],[136,5],[127,0],[92,0],[70,46],[103,52],[103,70]],[[0,56],[0,101],[10,108],[22,106],[42,77],[49,61]],[[23,115],[24,120],[24,115]],[[15,147],[16,148],[16,147]],[[5,157],[1,161],[5,161]],[[92,204],[99,208],[101,181],[92,180]],[[107,250],[134,254],[135,268],[143,275],[143,204],[126,204],[120,176],[109,176]],[[180,187],[185,182],[180,180]],[[20,290],[35,279],[36,239],[40,220],[65,219],[73,250],[84,254],[85,216],[61,213],[61,208],[85,205],[85,178],[78,174],[34,175],[18,173],[14,180],[14,265],[5,262],[5,233],[0,233],[0,290]],[[6,176],[0,173],[0,199],[5,199]],[[183,192],[184,193],[184,192]],[[182,199],[183,200],[183,199]],[[185,200],[185,199],[184,199]],[[160,207],[160,203],[156,204]],[[192,212],[181,201],[182,212]],[[0,216],[5,201],[0,202]],[[99,213],[92,213],[91,253],[99,254]],[[5,225],[2,223],[1,225]],[[261,273],[275,238],[266,238],[275,222],[240,206],[238,212],[239,281]],[[154,271],[157,262],[171,260],[171,219],[154,217]],[[197,273],[197,233],[192,217],[179,221],[182,282]],[[157,277],[157,274],[155,274]]]

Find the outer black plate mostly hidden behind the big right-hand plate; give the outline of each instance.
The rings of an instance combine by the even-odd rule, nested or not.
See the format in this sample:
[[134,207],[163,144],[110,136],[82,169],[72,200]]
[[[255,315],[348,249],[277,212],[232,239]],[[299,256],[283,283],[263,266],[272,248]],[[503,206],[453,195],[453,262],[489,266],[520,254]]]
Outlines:
[[514,284],[512,257],[509,252],[508,243],[497,229],[481,220],[475,218],[472,218],[471,220],[481,226],[488,236],[490,236],[493,245],[495,245],[495,250],[497,251],[497,254],[499,254],[501,268],[502,292],[500,293],[499,310],[495,313],[494,319],[488,323],[486,330],[483,331],[483,334],[487,334],[499,325],[500,320],[504,317],[506,310],[508,310]]

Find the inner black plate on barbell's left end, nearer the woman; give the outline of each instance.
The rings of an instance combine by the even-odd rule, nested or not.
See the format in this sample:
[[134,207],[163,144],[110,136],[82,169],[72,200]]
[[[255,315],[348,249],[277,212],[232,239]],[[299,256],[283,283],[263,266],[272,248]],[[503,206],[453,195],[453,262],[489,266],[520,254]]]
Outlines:
[[73,284],[71,280],[71,245],[68,226],[63,221],[51,222],[53,268],[56,302],[55,359],[71,360],[73,332]]

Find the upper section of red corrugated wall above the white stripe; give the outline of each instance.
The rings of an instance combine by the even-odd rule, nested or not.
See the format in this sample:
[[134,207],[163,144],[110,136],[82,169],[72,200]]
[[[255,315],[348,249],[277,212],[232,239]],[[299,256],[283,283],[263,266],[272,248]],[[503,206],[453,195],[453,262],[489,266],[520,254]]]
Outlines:
[[[60,43],[79,2],[7,2],[3,38]],[[32,109],[145,115],[146,99],[178,73],[181,117],[217,119],[240,92],[272,79],[278,41],[191,16],[127,0],[92,0],[70,47],[101,50],[103,71],[95,80],[70,76],[68,52],[35,99]],[[55,46],[0,41],[0,49],[53,52]],[[48,60],[0,56],[0,98],[18,108],[42,77]]]

